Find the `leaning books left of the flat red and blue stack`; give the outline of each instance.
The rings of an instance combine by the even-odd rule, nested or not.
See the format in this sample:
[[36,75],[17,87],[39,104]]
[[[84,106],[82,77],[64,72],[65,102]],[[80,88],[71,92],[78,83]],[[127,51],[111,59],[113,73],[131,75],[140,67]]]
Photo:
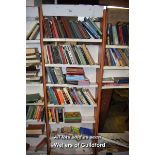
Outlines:
[[59,67],[46,67],[47,82],[52,84],[64,84],[65,75]]

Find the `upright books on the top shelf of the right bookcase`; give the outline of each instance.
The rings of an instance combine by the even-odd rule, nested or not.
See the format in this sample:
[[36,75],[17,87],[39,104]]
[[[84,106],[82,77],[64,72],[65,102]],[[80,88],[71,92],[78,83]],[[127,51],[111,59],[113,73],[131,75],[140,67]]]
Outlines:
[[129,23],[118,22],[107,25],[108,45],[129,45]]

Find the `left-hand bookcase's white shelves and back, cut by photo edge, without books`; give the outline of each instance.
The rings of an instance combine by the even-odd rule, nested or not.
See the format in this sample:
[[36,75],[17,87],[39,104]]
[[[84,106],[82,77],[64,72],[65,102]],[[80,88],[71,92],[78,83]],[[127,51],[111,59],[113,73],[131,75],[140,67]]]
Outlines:
[[[34,9],[35,8],[35,9]],[[26,21],[30,22],[30,21],[37,21],[39,22],[38,19],[38,7],[26,7],[27,10],[27,14],[26,14]],[[31,12],[29,12],[29,11]],[[30,14],[31,15],[30,15]],[[41,54],[41,46],[40,46],[40,35],[38,34],[36,39],[33,40],[26,40],[26,49],[27,48],[36,48],[39,52],[39,54]],[[40,58],[41,59],[41,58]],[[33,63],[34,65],[37,65],[37,69],[39,69],[38,77],[42,77],[42,61],[40,60],[40,63]],[[27,64],[26,63],[26,67],[31,66],[32,63]],[[40,94],[41,96],[41,102],[37,102],[37,103],[26,103],[26,109],[27,107],[44,107],[44,91],[43,91],[43,83],[40,82],[27,82],[26,81],[26,95],[29,94]],[[46,124],[46,120],[45,121],[38,121],[38,120],[34,120],[34,119],[27,119],[26,120],[26,128],[29,126],[38,126],[38,125],[45,125]],[[32,137],[32,136],[28,136],[26,137],[26,143],[30,144],[29,149],[26,151],[26,154],[43,154],[47,152],[47,145],[44,145],[41,149],[39,149],[37,152],[35,152],[35,149],[37,148],[38,144],[40,142],[42,142],[43,138],[47,137],[46,135],[46,127],[44,129],[44,132],[42,134],[40,134],[37,137]]]

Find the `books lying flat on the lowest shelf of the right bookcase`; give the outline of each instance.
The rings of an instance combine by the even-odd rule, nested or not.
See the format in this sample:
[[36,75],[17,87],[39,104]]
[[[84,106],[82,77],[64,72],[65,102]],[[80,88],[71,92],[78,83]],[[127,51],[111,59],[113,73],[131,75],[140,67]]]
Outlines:
[[111,77],[103,79],[103,86],[127,86],[128,84],[129,77]]

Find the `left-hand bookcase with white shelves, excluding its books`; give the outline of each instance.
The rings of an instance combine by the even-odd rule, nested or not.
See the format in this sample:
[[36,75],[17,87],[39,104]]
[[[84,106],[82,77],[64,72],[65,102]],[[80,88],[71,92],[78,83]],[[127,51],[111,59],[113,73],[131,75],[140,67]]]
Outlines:
[[[35,9],[34,9],[35,8]],[[26,15],[26,20],[28,21],[34,21],[34,20],[38,20],[38,7],[26,7],[27,10],[27,15]],[[41,54],[41,46],[40,46],[40,38],[36,39],[36,40],[26,40],[26,48],[37,48],[39,53]],[[39,68],[40,68],[40,76],[42,77],[42,60],[40,61],[39,64]],[[42,98],[44,98],[44,89],[43,89],[43,83],[26,83],[26,94],[34,94],[34,93],[39,93],[41,95]],[[45,102],[42,103],[34,103],[34,104],[26,104],[26,106],[45,106],[44,104]],[[41,122],[41,121],[33,121],[33,120],[26,120],[26,125],[28,124],[45,124],[45,122]],[[45,129],[46,130],[46,129]],[[43,137],[47,137],[46,136],[46,132],[43,133],[42,135]],[[35,139],[35,140],[34,140]],[[33,143],[33,145],[35,145],[36,141],[40,142],[42,140],[42,138],[33,138],[33,137],[28,137],[28,139],[26,140],[27,142]],[[27,154],[43,154],[46,151],[46,146],[43,148],[43,150],[34,152],[35,150],[35,146],[30,146],[30,149],[26,152]]]

